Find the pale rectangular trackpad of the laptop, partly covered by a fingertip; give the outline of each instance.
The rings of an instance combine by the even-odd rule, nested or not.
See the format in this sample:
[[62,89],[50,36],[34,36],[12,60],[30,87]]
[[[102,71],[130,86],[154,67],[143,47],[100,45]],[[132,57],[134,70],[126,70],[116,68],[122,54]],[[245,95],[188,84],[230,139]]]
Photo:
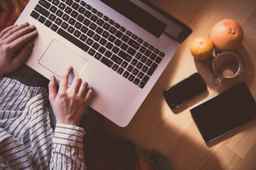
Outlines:
[[74,77],[77,77],[82,69],[85,68],[87,60],[78,55],[70,48],[58,42],[58,40],[53,40],[50,45],[43,53],[43,56],[39,60],[39,64],[46,69],[61,77],[65,71],[65,68],[71,65],[73,67],[73,72],[71,72],[68,82],[71,84]]

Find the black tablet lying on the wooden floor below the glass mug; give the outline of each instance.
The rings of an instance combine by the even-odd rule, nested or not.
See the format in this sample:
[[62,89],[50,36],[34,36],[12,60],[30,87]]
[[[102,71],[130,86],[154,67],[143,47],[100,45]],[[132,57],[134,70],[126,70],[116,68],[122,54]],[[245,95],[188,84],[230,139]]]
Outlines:
[[256,103],[245,83],[191,108],[205,142],[212,142],[256,118]]

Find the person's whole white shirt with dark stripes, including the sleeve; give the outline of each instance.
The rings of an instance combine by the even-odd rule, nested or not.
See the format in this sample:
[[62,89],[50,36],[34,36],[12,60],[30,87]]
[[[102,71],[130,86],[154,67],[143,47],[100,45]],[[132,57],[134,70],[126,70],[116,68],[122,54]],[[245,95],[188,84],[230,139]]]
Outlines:
[[48,91],[0,78],[0,169],[86,169],[72,125],[50,127]]

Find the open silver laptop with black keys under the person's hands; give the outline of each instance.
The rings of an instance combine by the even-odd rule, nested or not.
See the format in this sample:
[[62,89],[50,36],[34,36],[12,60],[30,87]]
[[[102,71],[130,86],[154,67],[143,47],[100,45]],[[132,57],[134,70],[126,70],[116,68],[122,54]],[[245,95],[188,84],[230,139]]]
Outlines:
[[[65,67],[93,87],[90,107],[124,127],[159,79],[190,28],[140,0],[33,0],[17,24],[38,37],[26,64],[59,83]],[[171,39],[172,38],[172,39]]]

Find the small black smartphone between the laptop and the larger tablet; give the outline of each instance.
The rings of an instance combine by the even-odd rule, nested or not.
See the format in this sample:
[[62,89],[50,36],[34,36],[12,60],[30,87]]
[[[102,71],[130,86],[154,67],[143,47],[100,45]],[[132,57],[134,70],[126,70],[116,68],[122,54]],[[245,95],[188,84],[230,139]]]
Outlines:
[[163,94],[170,108],[178,108],[206,90],[205,81],[199,73],[195,73],[178,84],[169,87]]

